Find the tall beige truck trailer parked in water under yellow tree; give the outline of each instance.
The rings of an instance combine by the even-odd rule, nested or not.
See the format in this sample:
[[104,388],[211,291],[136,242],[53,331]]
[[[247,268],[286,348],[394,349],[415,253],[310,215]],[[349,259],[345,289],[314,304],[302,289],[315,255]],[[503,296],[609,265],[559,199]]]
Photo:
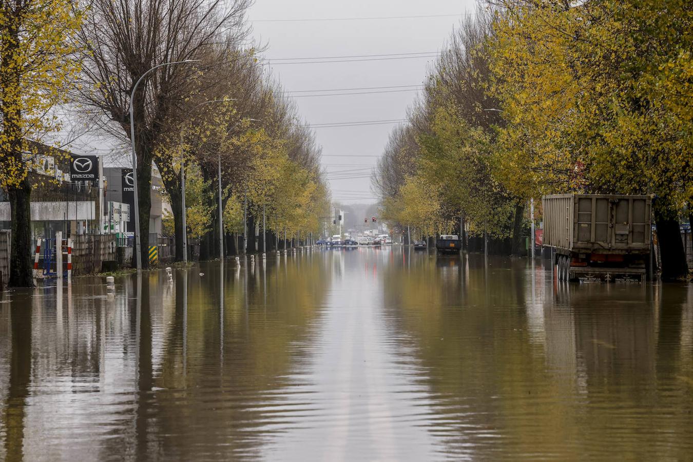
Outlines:
[[553,249],[559,281],[642,282],[650,265],[647,195],[542,197],[543,245]]

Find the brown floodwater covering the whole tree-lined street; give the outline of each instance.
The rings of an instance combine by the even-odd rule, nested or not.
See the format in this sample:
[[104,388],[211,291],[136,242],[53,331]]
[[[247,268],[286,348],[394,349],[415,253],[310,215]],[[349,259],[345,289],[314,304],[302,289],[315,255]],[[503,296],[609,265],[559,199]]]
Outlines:
[[8,461],[692,457],[692,285],[394,247],[0,296]]

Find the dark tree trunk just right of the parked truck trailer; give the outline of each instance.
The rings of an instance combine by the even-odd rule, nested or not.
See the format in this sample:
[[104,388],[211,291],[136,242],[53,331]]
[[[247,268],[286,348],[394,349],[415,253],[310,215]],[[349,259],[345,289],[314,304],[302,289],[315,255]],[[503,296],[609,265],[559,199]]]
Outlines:
[[681,240],[681,229],[676,215],[667,210],[662,199],[653,204],[660,258],[662,258],[662,279],[672,281],[683,278],[688,273],[686,255]]

